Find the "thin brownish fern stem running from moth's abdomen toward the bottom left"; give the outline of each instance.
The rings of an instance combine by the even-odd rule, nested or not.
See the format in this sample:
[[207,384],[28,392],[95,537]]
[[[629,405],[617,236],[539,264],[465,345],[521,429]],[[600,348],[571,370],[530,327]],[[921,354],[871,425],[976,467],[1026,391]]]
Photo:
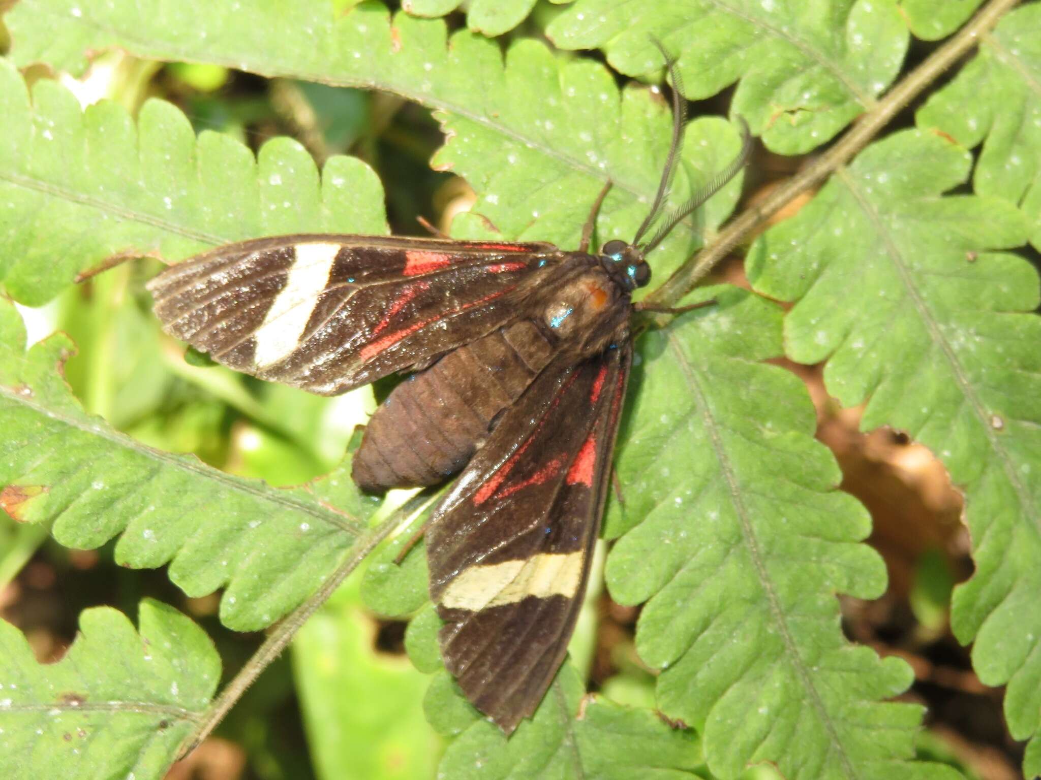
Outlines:
[[209,736],[210,732],[224,720],[224,717],[246,693],[246,690],[260,676],[268,666],[277,658],[293,640],[300,627],[307,622],[322,604],[324,604],[333,592],[342,583],[358,565],[369,555],[376,546],[398,527],[403,518],[410,517],[416,510],[430,500],[426,493],[420,493],[410,499],[404,506],[392,513],[386,520],[361,537],[348,551],[344,562],[336,568],[332,575],[322,583],[322,587],[307,601],[294,609],[281,622],[276,625],[263,644],[257,648],[238,674],[229,682],[221,695],[209,705],[202,720],[183,743],[178,751],[178,759],[183,758],[195,750],[203,739]]

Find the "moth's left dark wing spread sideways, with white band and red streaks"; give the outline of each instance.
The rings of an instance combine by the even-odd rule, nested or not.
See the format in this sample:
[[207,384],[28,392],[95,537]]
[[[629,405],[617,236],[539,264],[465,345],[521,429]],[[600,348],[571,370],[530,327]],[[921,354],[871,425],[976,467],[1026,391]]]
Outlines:
[[516,316],[548,243],[297,235],[228,244],[149,282],[163,330],[231,368],[333,395]]

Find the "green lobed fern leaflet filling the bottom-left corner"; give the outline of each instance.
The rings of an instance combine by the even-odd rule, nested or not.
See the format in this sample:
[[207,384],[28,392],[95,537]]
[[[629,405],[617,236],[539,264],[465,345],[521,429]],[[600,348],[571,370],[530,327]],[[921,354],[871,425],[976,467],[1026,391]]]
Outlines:
[[173,607],[146,599],[141,632],[116,609],[80,615],[57,664],[0,621],[0,753],[4,776],[157,778],[209,704],[221,659]]

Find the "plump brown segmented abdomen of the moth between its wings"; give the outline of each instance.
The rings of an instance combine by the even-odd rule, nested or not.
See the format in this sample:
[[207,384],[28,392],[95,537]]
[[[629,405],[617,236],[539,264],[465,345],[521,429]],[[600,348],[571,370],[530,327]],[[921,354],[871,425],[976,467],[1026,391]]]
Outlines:
[[364,490],[436,485],[461,469],[549,363],[554,344],[529,320],[454,349],[396,387],[354,457]]

